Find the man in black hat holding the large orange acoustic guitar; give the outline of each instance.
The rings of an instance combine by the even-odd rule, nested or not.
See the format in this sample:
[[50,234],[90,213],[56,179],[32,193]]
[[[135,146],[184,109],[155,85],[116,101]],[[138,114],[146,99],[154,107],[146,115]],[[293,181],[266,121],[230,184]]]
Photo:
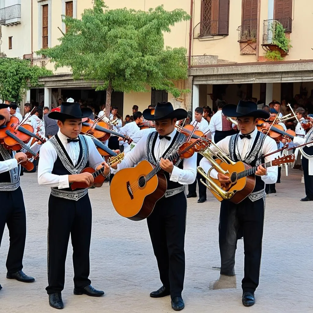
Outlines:
[[182,290],[185,275],[184,239],[186,227],[187,199],[185,186],[196,178],[196,153],[176,163],[168,157],[177,152],[186,136],[175,129],[177,120],[187,117],[187,111],[174,110],[169,102],[157,103],[154,110],[146,109],[142,115],[155,121],[156,131],[141,138],[126,154],[117,170],[133,167],[142,159],[157,166],[160,164],[167,179],[167,191],[155,205],[147,218],[152,247],[156,256],[162,287],[151,292],[153,298],[171,295],[172,308],[182,310]]

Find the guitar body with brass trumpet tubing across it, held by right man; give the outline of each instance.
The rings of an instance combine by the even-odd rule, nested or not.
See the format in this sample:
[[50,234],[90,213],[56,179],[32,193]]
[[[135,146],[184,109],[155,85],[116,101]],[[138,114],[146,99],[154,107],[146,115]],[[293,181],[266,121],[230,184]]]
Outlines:
[[[250,165],[245,164],[244,162],[236,162],[235,165],[228,164],[226,162],[221,162],[219,164],[223,170],[228,170],[229,174],[226,174],[228,177],[231,177],[233,173],[239,173],[243,172],[244,170],[247,170],[251,168]],[[233,176],[235,176],[233,174]],[[212,178],[212,177],[211,177]],[[234,195],[232,198],[229,199],[229,201],[233,203],[240,203],[242,200],[247,198],[249,194],[253,191],[255,187],[255,177],[254,176],[246,176],[243,178],[240,178],[238,180],[235,180],[232,183],[227,184],[226,186],[221,186],[221,183],[218,179],[212,178],[213,182],[215,182],[218,186],[220,186],[225,191],[233,191]],[[218,199],[218,201],[222,201],[223,198],[221,198],[219,195],[217,195],[215,192],[212,192],[215,198]]]

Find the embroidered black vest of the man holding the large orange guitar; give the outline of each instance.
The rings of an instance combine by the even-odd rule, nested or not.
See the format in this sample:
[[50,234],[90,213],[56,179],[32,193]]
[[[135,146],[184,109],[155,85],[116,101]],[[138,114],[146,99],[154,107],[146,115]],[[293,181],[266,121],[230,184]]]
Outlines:
[[[149,134],[147,141],[146,141],[146,154],[147,154],[147,161],[150,162],[151,164],[157,166],[160,163],[160,159],[156,160],[156,157],[154,155],[154,147],[156,144],[156,139],[159,136],[158,132],[154,131],[152,133]],[[162,140],[167,140],[167,139],[162,139]],[[174,138],[171,142],[171,144],[169,145],[169,147],[167,148],[167,150],[164,152],[164,154],[162,155],[163,159],[168,158],[169,156],[171,156],[172,154],[174,154],[175,152],[177,152],[178,147],[185,142],[186,140],[186,136],[181,134],[180,132],[176,132],[176,134],[174,135]],[[177,162],[174,164],[176,167],[178,168],[183,168],[183,160],[179,159],[177,160]],[[170,174],[168,172],[164,172],[166,180],[167,180],[167,190],[166,190],[166,194],[165,197],[170,197],[173,196],[179,192],[183,192],[185,190],[185,185],[182,185],[178,182],[172,182],[170,180]]]

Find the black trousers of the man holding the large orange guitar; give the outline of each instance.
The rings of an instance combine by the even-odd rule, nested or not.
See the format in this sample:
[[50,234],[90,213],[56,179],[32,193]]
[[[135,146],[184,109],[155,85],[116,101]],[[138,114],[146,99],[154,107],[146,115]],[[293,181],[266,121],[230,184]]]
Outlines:
[[160,279],[171,298],[181,296],[184,287],[186,213],[186,195],[180,192],[160,199],[147,218]]

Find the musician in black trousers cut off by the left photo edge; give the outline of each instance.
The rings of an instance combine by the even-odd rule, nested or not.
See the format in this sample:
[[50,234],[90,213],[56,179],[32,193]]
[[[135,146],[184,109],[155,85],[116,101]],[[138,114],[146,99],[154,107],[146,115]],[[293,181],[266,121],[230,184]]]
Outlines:
[[[0,104],[0,127],[5,126],[10,120],[9,105]],[[38,152],[39,145],[34,145],[32,150]],[[8,151],[0,145],[0,245],[5,224],[10,236],[6,267],[7,278],[22,282],[33,282],[33,277],[23,273],[23,255],[26,240],[26,213],[23,192],[20,187],[21,166],[18,162],[27,161],[23,152]],[[0,290],[2,289],[0,285]]]

